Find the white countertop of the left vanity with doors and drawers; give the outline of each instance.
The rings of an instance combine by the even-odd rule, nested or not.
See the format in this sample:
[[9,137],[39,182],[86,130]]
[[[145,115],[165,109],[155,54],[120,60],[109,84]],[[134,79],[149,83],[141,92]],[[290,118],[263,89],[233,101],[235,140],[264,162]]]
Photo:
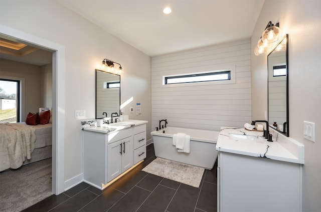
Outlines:
[[147,122],[148,121],[143,121],[143,120],[127,120],[127,121],[121,121],[121,122],[116,122],[112,124],[102,124],[101,127],[97,127],[97,126],[83,127],[83,129],[88,131],[93,131],[93,132],[110,133],[110,132],[126,129],[129,127],[145,124]]

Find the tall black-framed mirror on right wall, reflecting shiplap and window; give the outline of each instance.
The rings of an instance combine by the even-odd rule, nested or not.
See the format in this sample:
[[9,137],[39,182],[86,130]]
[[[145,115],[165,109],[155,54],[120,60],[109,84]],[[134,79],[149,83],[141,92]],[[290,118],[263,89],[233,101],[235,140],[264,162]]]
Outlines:
[[267,56],[268,122],[280,133],[289,136],[288,105],[288,35]]

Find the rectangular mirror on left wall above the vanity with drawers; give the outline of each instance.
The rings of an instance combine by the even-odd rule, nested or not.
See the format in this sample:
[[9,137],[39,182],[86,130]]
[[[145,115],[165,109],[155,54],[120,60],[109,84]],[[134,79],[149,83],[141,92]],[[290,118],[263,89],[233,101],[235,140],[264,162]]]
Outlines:
[[96,119],[120,114],[120,75],[96,69]]

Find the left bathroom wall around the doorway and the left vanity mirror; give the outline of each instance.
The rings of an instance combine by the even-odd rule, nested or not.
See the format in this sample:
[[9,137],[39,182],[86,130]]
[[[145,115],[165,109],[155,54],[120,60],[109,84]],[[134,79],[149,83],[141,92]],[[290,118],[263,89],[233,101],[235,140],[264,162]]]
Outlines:
[[65,47],[65,181],[83,172],[82,132],[74,111],[86,110],[86,119],[95,118],[95,69],[101,68],[104,58],[123,67],[121,102],[133,97],[128,107],[142,104],[142,114],[129,114],[130,118],[150,123],[148,56],[54,1],[2,1],[0,20],[2,25]]

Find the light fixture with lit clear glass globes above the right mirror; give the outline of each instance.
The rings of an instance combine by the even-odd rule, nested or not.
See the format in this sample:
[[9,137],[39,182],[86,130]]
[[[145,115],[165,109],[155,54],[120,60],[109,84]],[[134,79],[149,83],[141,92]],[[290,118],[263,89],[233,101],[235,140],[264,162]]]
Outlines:
[[254,53],[256,56],[267,54],[274,48],[274,42],[279,40],[279,23],[275,25],[269,22],[262,33],[260,40],[257,42]]

